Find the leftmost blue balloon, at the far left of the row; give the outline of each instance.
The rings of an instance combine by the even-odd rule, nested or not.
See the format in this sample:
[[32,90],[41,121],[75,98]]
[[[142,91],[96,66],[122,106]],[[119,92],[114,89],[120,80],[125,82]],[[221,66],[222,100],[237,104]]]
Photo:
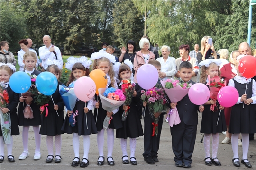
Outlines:
[[25,93],[31,85],[31,78],[24,71],[18,71],[10,76],[9,85],[15,93]]

